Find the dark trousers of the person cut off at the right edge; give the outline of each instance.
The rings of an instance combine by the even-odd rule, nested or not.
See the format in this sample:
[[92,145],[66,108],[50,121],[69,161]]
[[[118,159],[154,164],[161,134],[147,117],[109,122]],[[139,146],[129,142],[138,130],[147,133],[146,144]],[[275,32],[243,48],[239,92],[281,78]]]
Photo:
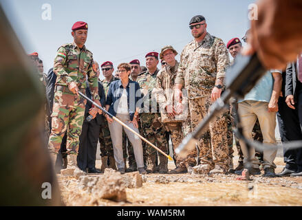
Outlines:
[[[290,109],[285,103],[285,98],[279,98],[277,119],[282,142],[302,140],[302,90],[298,97],[298,103],[295,104],[296,109]],[[285,168],[302,171],[302,148],[283,148],[283,157],[286,163]]]

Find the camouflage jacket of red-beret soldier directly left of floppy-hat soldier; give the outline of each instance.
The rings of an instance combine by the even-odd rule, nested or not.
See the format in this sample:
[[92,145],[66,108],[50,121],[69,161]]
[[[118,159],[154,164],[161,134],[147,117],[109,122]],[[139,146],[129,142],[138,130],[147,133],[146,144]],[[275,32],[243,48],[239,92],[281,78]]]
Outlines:
[[140,90],[142,94],[144,94],[144,113],[159,112],[158,103],[156,102],[155,94],[153,94],[153,89],[155,88],[156,79],[159,71],[159,69],[156,69],[154,74],[151,75],[149,73],[149,70],[147,70],[146,72],[142,72],[141,74],[139,74],[138,79],[136,80],[136,82],[138,82],[138,84],[140,85]]

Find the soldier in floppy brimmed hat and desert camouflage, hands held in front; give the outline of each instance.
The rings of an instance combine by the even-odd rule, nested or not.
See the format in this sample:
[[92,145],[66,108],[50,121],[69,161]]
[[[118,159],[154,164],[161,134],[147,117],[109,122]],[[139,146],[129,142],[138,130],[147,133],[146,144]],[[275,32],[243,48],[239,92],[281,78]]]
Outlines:
[[[183,139],[182,122],[187,118],[187,111],[182,111],[180,114],[180,109],[177,109],[178,102],[175,102],[173,98],[173,87],[178,68],[178,62],[175,60],[176,55],[177,52],[172,46],[162,48],[160,59],[164,59],[166,65],[158,73],[154,89],[156,100],[160,105],[161,121],[166,126],[166,129],[171,132],[173,155],[176,164],[176,168],[170,171],[172,174],[187,173],[188,171],[186,159],[175,154],[175,148],[180,145]],[[187,106],[187,102],[182,104]]]

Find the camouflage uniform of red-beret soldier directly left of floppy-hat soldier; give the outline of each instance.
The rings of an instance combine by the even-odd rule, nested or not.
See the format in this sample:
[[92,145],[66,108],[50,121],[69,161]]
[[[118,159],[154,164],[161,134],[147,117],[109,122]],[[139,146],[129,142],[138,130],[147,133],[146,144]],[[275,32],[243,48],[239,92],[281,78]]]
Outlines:
[[[153,94],[158,72],[159,69],[156,69],[155,73],[152,75],[147,71],[138,76],[137,82],[144,94],[144,108],[140,111],[140,123],[144,137],[146,137],[149,142],[160,148],[160,150],[164,151],[164,153],[168,153],[166,129],[159,120],[160,113],[158,113],[158,103],[156,102],[155,94]],[[155,164],[156,155],[157,151],[155,148],[147,144],[148,164]],[[166,157],[161,153],[159,155],[160,163],[164,166],[164,163],[167,163]]]

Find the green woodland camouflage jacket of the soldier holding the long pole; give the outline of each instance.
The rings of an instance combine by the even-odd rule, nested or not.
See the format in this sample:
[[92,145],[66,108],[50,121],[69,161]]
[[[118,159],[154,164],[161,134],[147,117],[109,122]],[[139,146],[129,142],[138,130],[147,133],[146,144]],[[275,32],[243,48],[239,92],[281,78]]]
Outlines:
[[76,43],[67,43],[58,48],[54,59],[54,73],[56,85],[67,87],[69,83],[76,82],[79,89],[86,88],[86,76],[88,78],[91,95],[94,100],[99,100],[98,78],[93,69],[94,59],[92,53],[85,45],[80,50]]

